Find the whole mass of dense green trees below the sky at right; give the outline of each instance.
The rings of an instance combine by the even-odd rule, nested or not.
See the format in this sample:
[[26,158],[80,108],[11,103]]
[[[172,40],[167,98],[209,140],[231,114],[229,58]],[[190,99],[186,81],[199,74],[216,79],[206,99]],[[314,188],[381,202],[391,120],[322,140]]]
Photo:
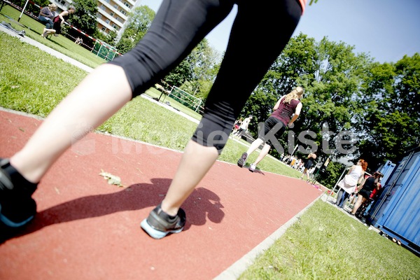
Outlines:
[[[272,113],[276,100],[302,85],[303,109],[293,128],[297,137],[303,133],[300,151],[312,148],[319,162],[343,157],[346,153],[340,153],[337,141],[344,134],[342,139],[353,143],[342,144],[342,150],[349,151],[350,159],[367,160],[374,172],[386,160],[398,162],[419,144],[419,70],[418,54],[379,64],[364,53],[355,55],[345,43],[327,38],[316,42],[300,34],[290,39],[241,115],[257,117],[250,126],[256,135],[258,122]],[[314,136],[305,135],[307,131]]]

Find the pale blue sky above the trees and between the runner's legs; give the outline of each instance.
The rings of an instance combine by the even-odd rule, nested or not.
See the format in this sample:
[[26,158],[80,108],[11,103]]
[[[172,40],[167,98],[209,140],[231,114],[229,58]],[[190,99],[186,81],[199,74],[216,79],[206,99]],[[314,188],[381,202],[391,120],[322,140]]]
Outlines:
[[[140,0],[158,10],[162,0]],[[308,3],[310,0],[308,0]],[[223,52],[228,44],[236,7],[207,39]],[[404,55],[420,53],[420,0],[318,0],[307,6],[293,36],[302,32],[316,41],[353,45],[377,62],[397,62]]]

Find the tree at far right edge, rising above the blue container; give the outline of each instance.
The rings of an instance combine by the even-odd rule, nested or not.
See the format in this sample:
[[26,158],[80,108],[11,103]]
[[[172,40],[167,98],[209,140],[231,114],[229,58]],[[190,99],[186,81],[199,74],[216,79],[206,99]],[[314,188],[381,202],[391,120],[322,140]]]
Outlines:
[[[372,167],[398,162],[420,143],[420,55],[373,64],[366,80],[365,139],[360,150]],[[374,170],[372,170],[374,171]]]

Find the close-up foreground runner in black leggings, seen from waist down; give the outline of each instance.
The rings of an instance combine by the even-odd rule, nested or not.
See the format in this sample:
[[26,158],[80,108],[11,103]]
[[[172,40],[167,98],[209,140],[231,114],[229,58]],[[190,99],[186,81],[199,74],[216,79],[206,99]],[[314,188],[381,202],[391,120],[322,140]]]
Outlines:
[[[164,0],[135,48],[98,66],[50,113],[22,150],[1,160],[1,225],[13,234],[31,221],[36,214],[31,195],[73,141],[164,78],[235,4],[238,12],[228,48],[201,123],[164,200],[141,222],[141,228],[155,239],[181,232],[186,223],[181,205],[222,152],[241,108],[293,34],[306,0]],[[251,20],[255,15],[264,16],[255,22]],[[276,38],[276,43],[262,44],[267,38]],[[246,57],[244,46],[249,50]]]

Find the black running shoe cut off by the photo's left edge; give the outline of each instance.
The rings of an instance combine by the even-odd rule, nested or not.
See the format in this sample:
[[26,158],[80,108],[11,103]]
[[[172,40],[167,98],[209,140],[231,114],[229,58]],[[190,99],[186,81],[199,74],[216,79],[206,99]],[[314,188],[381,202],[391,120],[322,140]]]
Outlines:
[[9,161],[0,159],[0,243],[25,228],[36,214],[36,202],[31,197],[36,184],[15,186],[6,171],[8,167]]

